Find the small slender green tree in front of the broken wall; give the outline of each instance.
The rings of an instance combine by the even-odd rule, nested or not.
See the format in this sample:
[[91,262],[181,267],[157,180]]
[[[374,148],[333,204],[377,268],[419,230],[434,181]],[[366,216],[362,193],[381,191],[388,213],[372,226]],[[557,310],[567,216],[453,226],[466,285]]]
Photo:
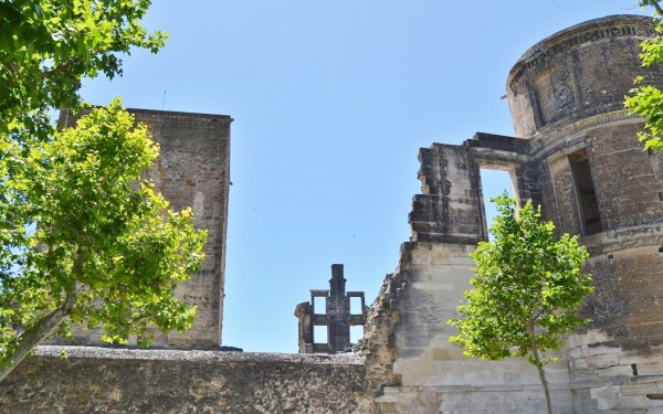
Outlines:
[[576,236],[556,238],[555,225],[540,220],[532,201],[518,211],[506,193],[492,201],[499,212],[490,227],[494,241],[481,242],[471,255],[474,288],[457,307],[464,318],[449,321],[460,331],[450,341],[469,357],[527,358],[538,370],[551,413],[544,365],[555,359],[545,352],[560,349],[565,335],[588,322],[576,310],[593,291],[590,276],[580,270],[589,255]]

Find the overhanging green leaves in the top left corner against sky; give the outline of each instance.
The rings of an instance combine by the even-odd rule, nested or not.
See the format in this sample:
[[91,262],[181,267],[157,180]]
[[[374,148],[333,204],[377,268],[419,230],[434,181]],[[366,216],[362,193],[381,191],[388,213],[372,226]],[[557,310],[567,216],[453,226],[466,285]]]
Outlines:
[[122,75],[122,54],[156,53],[167,35],[140,19],[149,0],[0,2],[0,135],[21,129],[46,139],[48,110],[76,108],[84,76]]

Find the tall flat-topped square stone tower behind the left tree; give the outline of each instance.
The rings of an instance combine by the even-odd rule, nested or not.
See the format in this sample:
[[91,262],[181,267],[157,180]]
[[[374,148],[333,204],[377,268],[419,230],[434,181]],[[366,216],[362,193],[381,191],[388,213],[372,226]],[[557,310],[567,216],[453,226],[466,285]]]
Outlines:
[[[193,327],[186,333],[157,336],[157,347],[210,349],[221,346],[223,285],[225,269],[225,230],[230,191],[230,124],[225,115],[188,114],[164,110],[129,109],[136,120],[147,125],[159,142],[160,155],[148,179],[180,211],[191,208],[193,225],[208,231],[206,259],[190,280],[181,284],[176,296],[198,308]],[[60,125],[73,125],[70,112],[60,116]],[[73,341],[63,344],[102,344],[96,330],[75,330]]]

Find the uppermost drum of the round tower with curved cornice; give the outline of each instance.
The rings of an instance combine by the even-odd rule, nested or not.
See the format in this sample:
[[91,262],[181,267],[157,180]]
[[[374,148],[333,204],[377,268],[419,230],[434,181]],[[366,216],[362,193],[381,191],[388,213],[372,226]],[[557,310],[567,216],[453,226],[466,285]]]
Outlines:
[[661,71],[642,67],[643,40],[655,35],[652,19],[617,14],[562,30],[532,46],[506,82],[515,136],[577,136],[614,121],[628,121],[624,95],[633,78],[659,84]]

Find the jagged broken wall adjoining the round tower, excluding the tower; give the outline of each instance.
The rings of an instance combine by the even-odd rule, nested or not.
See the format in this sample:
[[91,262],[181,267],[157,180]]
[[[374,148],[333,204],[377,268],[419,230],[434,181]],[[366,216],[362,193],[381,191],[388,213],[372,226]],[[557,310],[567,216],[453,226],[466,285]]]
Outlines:
[[[482,136],[486,139],[486,136]],[[485,362],[470,359],[449,338],[446,321],[471,288],[475,241],[485,237],[478,212],[478,157],[495,163],[517,162],[519,144],[496,137],[483,150],[478,142],[434,145],[422,150],[422,194],[413,201],[412,242],[401,247],[399,267],[386,279],[373,304],[364,340],[367,382],[377,413],[540,413],[545,397],[536,369],[519,359]],[[514,146],[516,144],[516,146]],[[467,160],[471,160],[470,162]],[[442,184],[431,184],[442,183]],[[454,195],[455,194],[455,195]],[[465,194],[463,197],[463,194]],[[422,202],[424,200],[424,202]],[[470,215],[461,226],[421,225],[422,210],[439,203],[435,214]],[[440,212],[440,213],[439,213]],[[439,220],[438,223],[444,223]],[[454,231],[454,229],[456,231]],[[573,413],[568,360],[547,368],[557,413]]]

